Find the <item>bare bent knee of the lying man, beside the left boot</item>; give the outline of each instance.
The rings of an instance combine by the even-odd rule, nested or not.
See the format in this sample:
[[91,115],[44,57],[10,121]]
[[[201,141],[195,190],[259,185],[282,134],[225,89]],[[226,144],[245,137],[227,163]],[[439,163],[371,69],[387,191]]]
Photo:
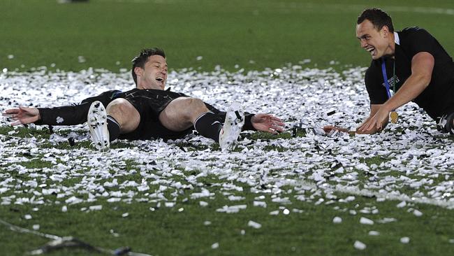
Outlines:
[[114,99],[108,104],[105,111],[107,111],[108,115],[117,120],[122,133],[131,132],[139,125],[140,114],[126,99]]

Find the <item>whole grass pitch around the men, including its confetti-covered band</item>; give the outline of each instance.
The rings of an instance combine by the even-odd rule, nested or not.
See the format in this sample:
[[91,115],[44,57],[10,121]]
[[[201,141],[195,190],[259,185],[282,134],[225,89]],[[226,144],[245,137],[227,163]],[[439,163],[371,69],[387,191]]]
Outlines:
[[[313,124],[305,117],[313,115],[315,123],[354,125],[361,108],[342,97],[362,104],[367,97],[342,85],[362,88],[364,69],[349,69],[369,63],[354,35],[366,7],[365,1],[3,0],[0,68],[8,71],[0,73],[0,108],[31,99],[61,105],[131,87],[120,69],[129,69],[140,48],[156,45],[168,54],[170,78],[177,78],[170,85],[205,101],[257,101],[251,111],[266,109],[290,124]],[[451,1],[379,7],[397,29],[423,27],[454,55]],[[55,73],[47,76],[39,66]],[[284,103],[290,113],[279,111]],[[323,114],[330,104],[335,118]],[[51,135],[45,127],[14,129],[2,120],[0,219],[149,255],[453,255],[453,140],[412,106],[403,111],[400,125],[383,136],[243,134],[244,143],[229,154],[194,136],[122,141],[96,152],[85,127]],[[342,222],[333,223],[335,217]],[[24,255],[47,241],[0,225],[0,255]],[[356,249],[356,241],[367,248]],[[87,254],[98,255],[49,253]]]

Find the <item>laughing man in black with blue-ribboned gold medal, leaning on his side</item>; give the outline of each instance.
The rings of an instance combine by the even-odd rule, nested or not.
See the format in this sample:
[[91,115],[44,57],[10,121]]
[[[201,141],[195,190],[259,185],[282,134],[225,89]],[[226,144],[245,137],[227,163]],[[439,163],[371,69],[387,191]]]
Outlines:
[[377,8],[358,17],[356,37],[372,56],[365,74],[370,115],[358,134],[381,131],[389,117],[397,122],[395,110],[409,101],[436,120],[440,131],[454,134],[454,63],[437,39],[418,27],[394,31],[391,17]]

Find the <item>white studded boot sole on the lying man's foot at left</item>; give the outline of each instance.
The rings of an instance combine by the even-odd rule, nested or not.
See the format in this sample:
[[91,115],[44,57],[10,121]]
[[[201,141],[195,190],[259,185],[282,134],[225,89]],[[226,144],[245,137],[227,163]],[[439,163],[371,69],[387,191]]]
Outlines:
[[91,141],[97,150],[105,150],[110,146],[107,129],[107,113],[101,101],[94,101],[87,115]]

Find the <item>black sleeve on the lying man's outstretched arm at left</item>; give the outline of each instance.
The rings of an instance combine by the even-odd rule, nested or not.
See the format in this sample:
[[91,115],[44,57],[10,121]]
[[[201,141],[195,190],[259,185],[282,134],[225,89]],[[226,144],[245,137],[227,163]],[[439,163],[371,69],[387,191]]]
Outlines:
[[115,99],[120,91],[112,90],[103,92],[96,97],[84,99],[80,104],[74,106],[59,106],[54,108],[38,108],[41,120],[35,122],[36,125],[80,125],[87,122],[87,114],[91,103],[101,101],[107,105]]

